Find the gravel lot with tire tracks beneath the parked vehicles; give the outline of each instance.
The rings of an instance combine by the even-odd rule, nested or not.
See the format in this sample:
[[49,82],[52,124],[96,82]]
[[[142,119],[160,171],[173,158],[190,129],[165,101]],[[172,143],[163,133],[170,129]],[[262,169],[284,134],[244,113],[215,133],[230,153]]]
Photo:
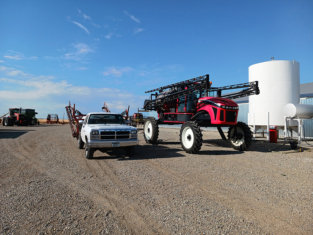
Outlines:
[[239,152],[203,132],[186,154],[178,129],[139,139],[132,158],[87,160],[69,125],[1,125],[0,234],[313,234],[313,146]]

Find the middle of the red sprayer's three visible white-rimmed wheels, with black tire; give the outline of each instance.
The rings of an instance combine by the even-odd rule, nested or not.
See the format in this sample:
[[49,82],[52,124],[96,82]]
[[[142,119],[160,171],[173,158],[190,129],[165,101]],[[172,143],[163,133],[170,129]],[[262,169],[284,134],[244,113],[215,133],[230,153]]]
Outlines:
[[185,122],[180,129],[179,140],[187,154],[195,154],[202,146],[202,130],[195,122]]

